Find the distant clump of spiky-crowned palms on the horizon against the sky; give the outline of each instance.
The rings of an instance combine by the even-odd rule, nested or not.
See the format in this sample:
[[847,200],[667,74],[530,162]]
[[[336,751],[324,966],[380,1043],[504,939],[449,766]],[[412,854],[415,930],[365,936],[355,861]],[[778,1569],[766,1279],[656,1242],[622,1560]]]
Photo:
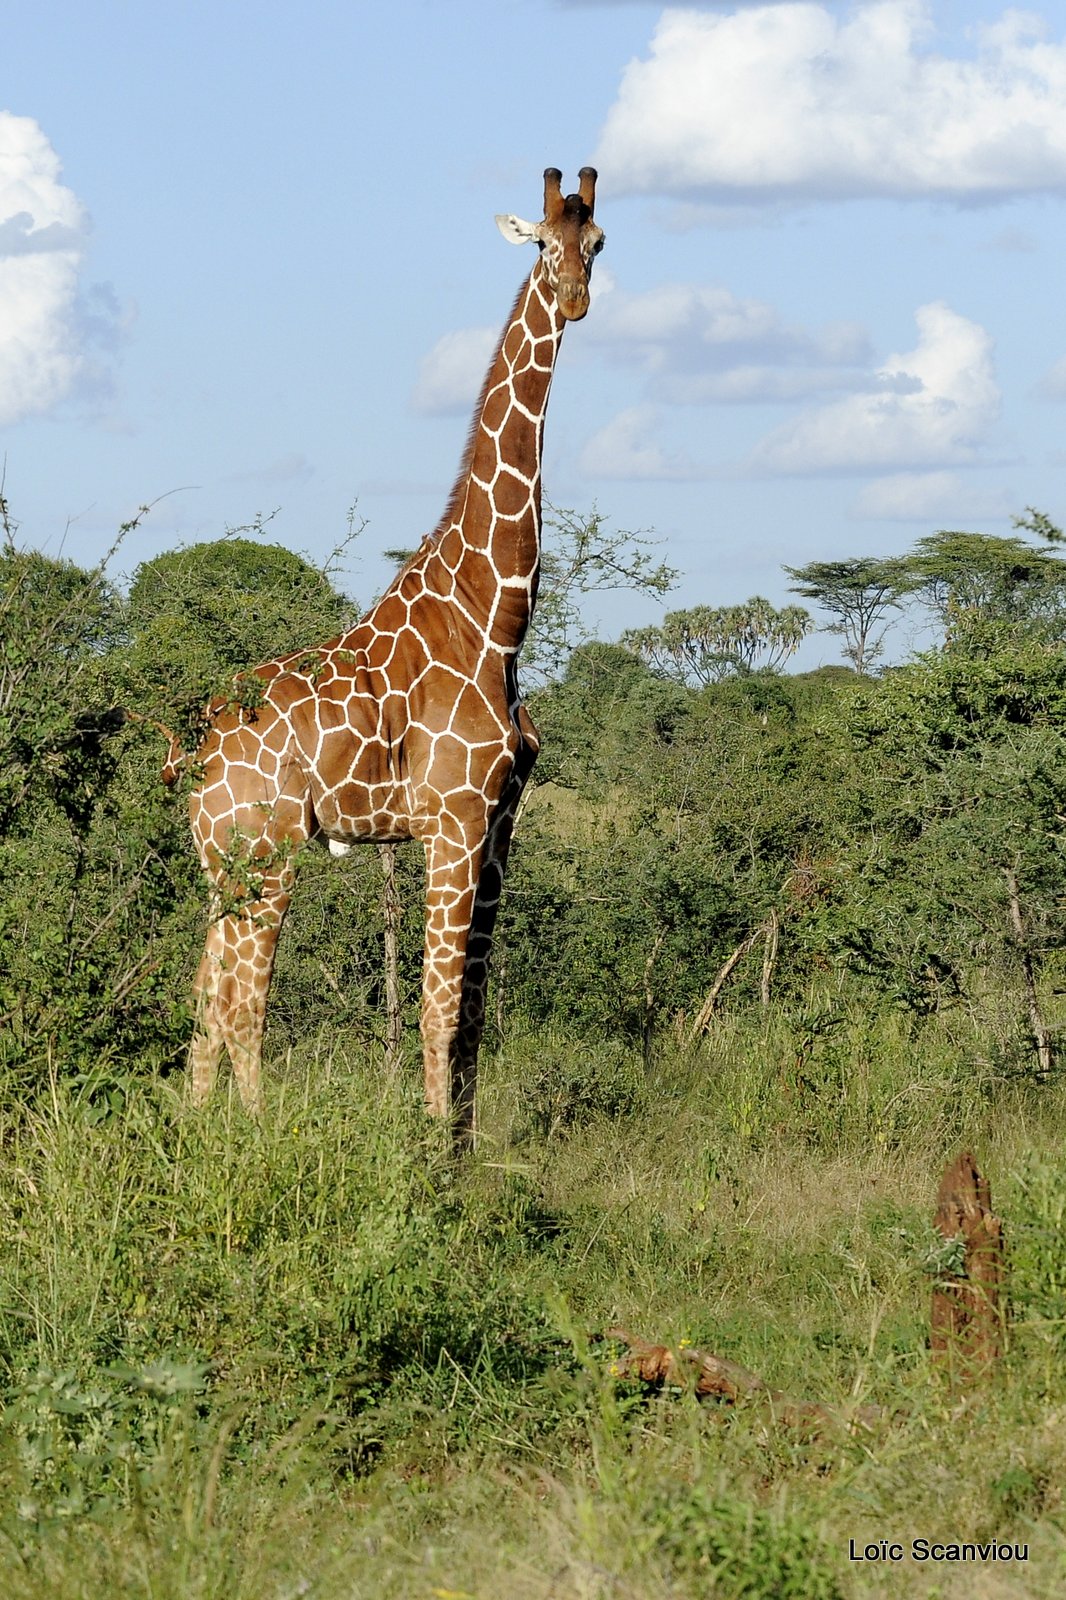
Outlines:
[[656,672],[706,686],[730,674],[778,672],[813,626],[804,606],[778,611],[752,595],[743,605],[667,611],[658,626],[629,629],[621,643]]

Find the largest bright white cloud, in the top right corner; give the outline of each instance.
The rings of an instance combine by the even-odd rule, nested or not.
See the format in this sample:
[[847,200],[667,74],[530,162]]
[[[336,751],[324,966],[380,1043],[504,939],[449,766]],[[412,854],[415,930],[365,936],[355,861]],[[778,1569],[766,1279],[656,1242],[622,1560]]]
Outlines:
[[615,192],[703,198],[1066,192],[1066,42],[1031,13],[933,48],[924,0],[663,13],[595,154]]

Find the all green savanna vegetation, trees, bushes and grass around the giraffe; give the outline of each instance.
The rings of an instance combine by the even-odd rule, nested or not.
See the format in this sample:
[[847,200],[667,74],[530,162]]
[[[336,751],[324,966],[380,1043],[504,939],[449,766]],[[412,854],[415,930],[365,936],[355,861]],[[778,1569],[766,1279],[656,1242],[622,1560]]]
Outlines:
[[[816,606],[579,597],[671,573],[555,517],[482,1054],[421,1114],[421,862],[312,850],[267,1115],[182,1099],[205,917],[163,744],[357,606],[262,531],[123,589],[0,557],[0,1594],[1037,1595],[1066,1581],[1066,562],[938,533],[789,570]],[[893,658],[885,626],[935,643]],[[787,674],[815,626],[848,666]],[[930,635],[932,637],[932,635]],[[874,675],[877,672],[877,675]],[[229,688],[227,688],[229,686]],[[1010,1251],[1007,1354],[930,1362],[941,1166]],[[618,1371],[623,1325],[839,1408]],[[880,1422],[850,1429],[850,1408]],[[853,1560],[868,1544],[1028,1562]]]

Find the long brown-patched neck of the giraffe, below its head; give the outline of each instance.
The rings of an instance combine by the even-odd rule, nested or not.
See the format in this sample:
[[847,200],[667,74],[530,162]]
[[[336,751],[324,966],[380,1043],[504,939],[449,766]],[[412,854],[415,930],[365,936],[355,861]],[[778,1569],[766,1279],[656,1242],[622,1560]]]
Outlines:
[[538,261],[488,368],[434,557],[458,603],[515,654],[536,600],[541,438],[565,318]]

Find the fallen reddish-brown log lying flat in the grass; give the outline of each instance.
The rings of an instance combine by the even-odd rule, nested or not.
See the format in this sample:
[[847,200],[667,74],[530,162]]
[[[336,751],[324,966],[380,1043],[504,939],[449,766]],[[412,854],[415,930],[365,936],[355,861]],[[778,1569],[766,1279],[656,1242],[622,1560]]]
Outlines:
[[611,1373],[618,1378],[693,1389],[698,1395],[714,1395],[730,1405],[738,1400],[755,1400],[775,1422],[805,1434],[813,1435],[824,1429],[855,1434],[860,1429],[874,1429],[887,1418],[884,1406],[877,1405],[828,1406],[815,1400],[794,1400],[779,1389],[770,1389],[757,1373],[747,1371],[738,1362],[698,1350],[685,1341],[671,1349],[666,1344],[648,1344],[624,1328],[608,1328],[603,1338],[618,1339],[627,1347],[624,1355],[611,1362]]

